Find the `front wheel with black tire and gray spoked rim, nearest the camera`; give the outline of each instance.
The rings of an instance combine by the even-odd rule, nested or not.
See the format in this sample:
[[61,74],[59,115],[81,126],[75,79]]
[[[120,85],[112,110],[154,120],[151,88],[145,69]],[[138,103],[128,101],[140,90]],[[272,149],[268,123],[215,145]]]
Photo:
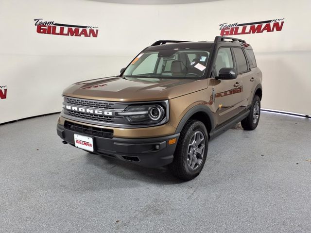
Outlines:
[[[204,138],[204,141],[200,141],[202,138]],[[193,145],[190,140],[193,142]],[[202,147],[202,145],[204,146]],[[188,154],[189,150],[190,155]],[[205,125],[198,120],[188,121],[180,133],[174,152],[173,163],[169,166],[173,175],[184,181],[190,181],[195,178],[203,169],[207,158],[207,150],[208,134]],[[199,151],[201,151],[201,154]]]

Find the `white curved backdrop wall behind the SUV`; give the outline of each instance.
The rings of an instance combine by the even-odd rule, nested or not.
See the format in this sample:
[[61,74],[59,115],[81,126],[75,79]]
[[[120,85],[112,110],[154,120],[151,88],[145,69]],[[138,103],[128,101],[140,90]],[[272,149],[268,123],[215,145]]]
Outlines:
[[[71,83],[119,74],[156,40],[213,40],[221,23],[285,18],[282,31],[239,35],[263,73],[262,107],[311,115],[310,0],[176,5],[90,0],[0,0],[0,123],[61,110]],[[98,37],[36,33],[35,18],[97,26]]]

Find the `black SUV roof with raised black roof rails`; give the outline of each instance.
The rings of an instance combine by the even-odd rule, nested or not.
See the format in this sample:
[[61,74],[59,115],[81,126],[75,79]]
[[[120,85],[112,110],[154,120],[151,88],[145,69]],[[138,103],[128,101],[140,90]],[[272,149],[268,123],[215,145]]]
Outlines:
[[150,47],[147,47],[145,51],[173,49],[210,49],[214,44],[221,44],[227,46],[242,46],[247,49],[251,49],[251,46],[247,44],[245,40],[226,36],[216,36],[214,41],[190,42],[178,40],[159,40],[153,43]]

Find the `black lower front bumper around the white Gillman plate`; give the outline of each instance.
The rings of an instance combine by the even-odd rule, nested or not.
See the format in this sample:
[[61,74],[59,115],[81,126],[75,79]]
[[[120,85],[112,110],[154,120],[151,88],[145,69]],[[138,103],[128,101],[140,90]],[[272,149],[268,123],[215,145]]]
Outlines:
[[[73,134],[86,135],[93,138],[94,152],[114,157],[123,161],[136,163],[146,167],[160,167],[173,162],[173,154],[177,145],[179,133],[155,138],[104,138],[65,129],[57,124],[57,134],[74,146]],[[169,145],[170,139],[177,138]],[[158,149],[156,148],[158,147]]]

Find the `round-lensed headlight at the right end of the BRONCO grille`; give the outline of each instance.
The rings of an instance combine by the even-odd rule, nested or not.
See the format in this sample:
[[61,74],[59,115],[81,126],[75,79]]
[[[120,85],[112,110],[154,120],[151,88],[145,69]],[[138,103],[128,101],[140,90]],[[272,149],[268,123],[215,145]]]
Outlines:
[[118,113],[132,125],[157,124],[165,118],[165,109],[160,104],[129,105]]

